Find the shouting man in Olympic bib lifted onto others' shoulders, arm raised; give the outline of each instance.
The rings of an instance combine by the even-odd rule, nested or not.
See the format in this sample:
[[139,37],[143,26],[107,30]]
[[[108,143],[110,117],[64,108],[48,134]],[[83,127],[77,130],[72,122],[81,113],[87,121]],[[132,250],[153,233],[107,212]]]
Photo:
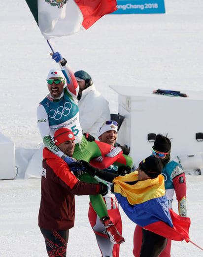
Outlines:
[[[78,179],[82,182],[96,183],[99,182],[91,177],[86,172],[81,172],[81,163],[75,159],[68,157],[62,152],[54,143],[53,136],[55,131],[59,128],[69,128],[75,136],[75,149],[73,158],[77,160],[90,161],[92,158],[99,157],[95,161],[95,166],[99,168],[108,167],[113,162],[120,162],[120,165],[133,165],[133,160],[122,155],[120,147],[114,148],[99,141],[88,141],[83,135],[79,123],[79,112],[77,106],[77,94],[79,87],[74,77],[73,71],[67,64],[67,61],[56,52],[52,58],[56,61],[62,61],[62,66],[68,74],[69,84],[65,85],[65,77],[60,69],[51,69],[47,76],[47,86],[50,94],[46,96],[37,107],[37,124],[43,138],[44,145],[54,154],[62,158],[70,167],[71,171],[75,172]],[[109,240],[113,244],[121,244],[125,240],[118,232],[110,220],[106,205],[103,201],[102,195],[90,195],[90,201],[95,212],[101,219],[105,227],[105,232]]]

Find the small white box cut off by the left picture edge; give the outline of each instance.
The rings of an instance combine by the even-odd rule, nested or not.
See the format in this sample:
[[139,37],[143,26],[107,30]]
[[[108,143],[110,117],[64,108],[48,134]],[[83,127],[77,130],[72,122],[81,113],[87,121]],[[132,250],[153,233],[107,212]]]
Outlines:
[[15,145],[0,133],[0,180],[14,179],[15,176]]

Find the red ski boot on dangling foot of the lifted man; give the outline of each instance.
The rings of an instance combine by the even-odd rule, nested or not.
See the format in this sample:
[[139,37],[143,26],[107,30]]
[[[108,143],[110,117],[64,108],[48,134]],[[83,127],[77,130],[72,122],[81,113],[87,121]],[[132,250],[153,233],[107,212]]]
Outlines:
[[105,230],[106,230],[106,235],[109,238],[109,240],[111,241],[111,243],[115,244],[122,244],[125,242],[125,239],[120,235],[120,233],[118,232],[117,228],[115,227],[115,225],[112,223],[112,221],[110,220],[109,216],[105,216],[101,219]]

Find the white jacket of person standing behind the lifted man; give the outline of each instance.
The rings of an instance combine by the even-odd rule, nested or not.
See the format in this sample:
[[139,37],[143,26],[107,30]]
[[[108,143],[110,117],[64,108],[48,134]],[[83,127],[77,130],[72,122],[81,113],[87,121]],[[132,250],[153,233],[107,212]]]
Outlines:
[[102,122],[110,120],[108,104],[94,84],[82,91],[78,108],[80,126],[84,133],[89,133],[98,140],[99,126]]

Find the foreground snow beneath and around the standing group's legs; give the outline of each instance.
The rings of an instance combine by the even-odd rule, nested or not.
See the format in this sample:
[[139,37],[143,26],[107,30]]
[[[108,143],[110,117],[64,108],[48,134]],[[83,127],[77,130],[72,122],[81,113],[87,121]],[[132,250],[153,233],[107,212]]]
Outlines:
[[[187,175],[187,208],[191,219],[190,239],[203,247],[203,176]],[[100,257],[95,235],[88,221],[88,196],[75,196],[75,225],[70,229],[68,257]],[[45,243],[37,226],[40,203],[40,179],[0,181],[0,256],[46,257]],[[177,202],[173,203],[177,212]],[[123,213],[123,236],[120,257],[133,257],[135,224]],[[171,257],[202,257],[193,244],[172,242]]]

